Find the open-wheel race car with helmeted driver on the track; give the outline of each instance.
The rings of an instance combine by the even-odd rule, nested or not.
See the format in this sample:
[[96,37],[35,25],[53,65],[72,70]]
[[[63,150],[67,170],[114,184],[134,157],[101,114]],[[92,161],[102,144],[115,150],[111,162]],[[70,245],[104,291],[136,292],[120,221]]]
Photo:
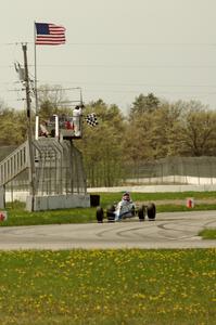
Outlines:
[[97,207],[96,217],[99,223],[103,222],[106,218],[107,222],[122,221],[127,218],[138,217],[140,221],[145,219],[145,214],[149,220],[154,220],[156,217],[156,207],[153,203],[141,206],[136,206],[134,203],[125,204],[120,200],[118,204],[113,204],[106,209]]

